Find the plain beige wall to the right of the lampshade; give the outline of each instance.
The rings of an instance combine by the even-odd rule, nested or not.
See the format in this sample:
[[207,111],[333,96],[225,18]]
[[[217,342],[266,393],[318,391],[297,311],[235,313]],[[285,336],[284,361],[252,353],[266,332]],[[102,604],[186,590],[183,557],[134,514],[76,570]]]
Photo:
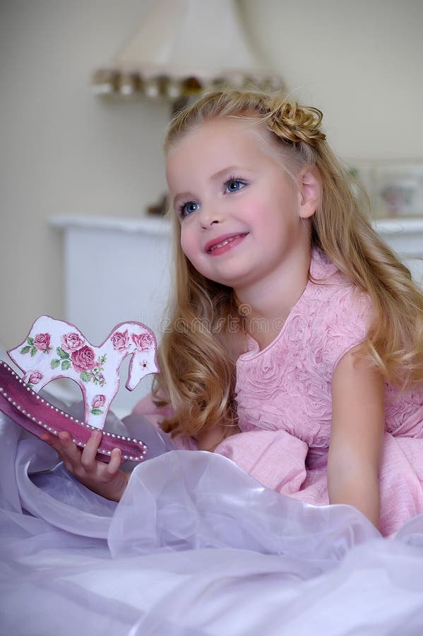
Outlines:
[[[422,0],[244,0],[292,95],[345,158],[422,158]],[[266,7],[266,10],[263,10]]]

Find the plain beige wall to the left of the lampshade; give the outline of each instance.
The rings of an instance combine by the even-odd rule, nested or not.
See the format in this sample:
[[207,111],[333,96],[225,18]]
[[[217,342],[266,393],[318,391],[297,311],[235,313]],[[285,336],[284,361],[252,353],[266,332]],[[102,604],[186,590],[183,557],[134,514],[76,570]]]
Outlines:
[[[164,187],[166,104],[108,103],[90,73],[133,33],[147,0],[0,3],[0,341],[14,346],[38,315],[64,317],[63,213],[137,216]],[[93,245],[81,254],[101,268]],[[95,294],[95,290],[93,290]]]

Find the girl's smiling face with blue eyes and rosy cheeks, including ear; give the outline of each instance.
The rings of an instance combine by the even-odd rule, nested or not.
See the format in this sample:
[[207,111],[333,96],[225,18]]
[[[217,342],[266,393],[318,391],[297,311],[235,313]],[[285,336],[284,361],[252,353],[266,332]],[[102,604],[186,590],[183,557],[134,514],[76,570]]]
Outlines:
[[236,292],[295,268],[310,250],[305,171],[292,182],[270,134],[242,119],[213,119],[167,155],[181,247],[206,278]]

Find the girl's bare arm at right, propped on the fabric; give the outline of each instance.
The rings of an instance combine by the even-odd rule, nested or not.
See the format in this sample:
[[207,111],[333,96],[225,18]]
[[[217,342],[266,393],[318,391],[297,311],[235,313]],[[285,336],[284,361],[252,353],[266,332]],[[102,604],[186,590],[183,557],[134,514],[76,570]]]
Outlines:
[[333,374],[328,493],[331,504],[355,506],[378,527],[385,387],[358,350],[346,353]]

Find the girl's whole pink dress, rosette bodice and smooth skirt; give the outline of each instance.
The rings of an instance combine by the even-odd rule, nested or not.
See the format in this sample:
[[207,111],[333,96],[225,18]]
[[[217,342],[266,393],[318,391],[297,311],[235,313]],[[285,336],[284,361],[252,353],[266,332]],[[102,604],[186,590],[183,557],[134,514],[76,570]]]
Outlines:
[[[328,504],[326,457],[332,413],[330,384],[342,355],[367,331],[369,300],[321,252],[311,281],[280,334],[237,362],[242,432],[215,452],[268,488],[314,505]],[[398,395],[386,385],[381,532],[393,534],[423,512],[423,387]]]

